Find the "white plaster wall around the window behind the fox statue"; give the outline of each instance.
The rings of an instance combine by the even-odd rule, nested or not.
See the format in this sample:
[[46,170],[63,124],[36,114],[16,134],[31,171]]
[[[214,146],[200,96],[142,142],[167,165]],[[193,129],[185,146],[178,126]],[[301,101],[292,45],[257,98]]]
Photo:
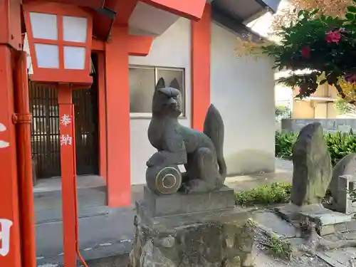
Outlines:
[[[142,66],[159,66],[185,69],[187,118],[182,118],[182,125],[190,126],[191,117],[191,60],[190,60],[190,21],[179,19],[161,36],[155,38],[150,54],[145,57],[130,56],[129,63]],[[146,162],[155,152],[147,138],[150,118],[130,119],[131,132],[131,184],[146,182]]]

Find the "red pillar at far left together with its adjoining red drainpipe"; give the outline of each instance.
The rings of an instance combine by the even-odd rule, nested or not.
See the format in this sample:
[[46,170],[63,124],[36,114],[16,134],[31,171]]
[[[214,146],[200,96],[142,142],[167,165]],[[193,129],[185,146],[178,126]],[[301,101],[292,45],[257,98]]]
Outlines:
[[[35,267],[31,173],[28,176],[31,155],[29,162],[23,162],[31,144],[29,138],[16,140],[15,129],[21,123],[17,136],[21,138],[29,128],[28,105],[23,101],[28,90],[26,56],[19,52],[21,43],[21,1],[0,1],[0,266]],[[25,148],[18,147],[21,154],[16,141]]]

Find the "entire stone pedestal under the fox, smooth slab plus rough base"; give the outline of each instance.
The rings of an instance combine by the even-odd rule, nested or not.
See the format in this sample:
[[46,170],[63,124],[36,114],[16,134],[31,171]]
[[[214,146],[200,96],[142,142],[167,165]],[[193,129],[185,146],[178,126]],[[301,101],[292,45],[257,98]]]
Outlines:
[[146,188],[144,199],[136,203],[129,266],[253,266],[255,226],[251,214],[234,207],[233,195],[224,187],[158,197]]

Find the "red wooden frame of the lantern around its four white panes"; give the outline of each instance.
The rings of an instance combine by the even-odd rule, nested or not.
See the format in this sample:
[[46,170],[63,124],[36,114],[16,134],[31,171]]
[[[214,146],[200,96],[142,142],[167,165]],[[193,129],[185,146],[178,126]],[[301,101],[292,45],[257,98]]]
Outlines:
[[[57,40],[49,40],[33,37],[33,27],[31,25],[31,13],[56,15]],[[33,64],[33,74],[29,78],[37,82],[46,83],[74,83],[88,85],[93,83],[90,76],[90,53],[92,44],[93,18],[78,6],[70,4],[59,4],[53,2],[30,2],[23,4],[23,15],[28,36],[28,46]],[[84,18],[87,21],[85,43],[63,40],[63,16],[73,16]],[[38,57],[36,55],[35,44],[58,46],[58,68],[39,68]],[[85,48],[85,65],[83,69],[68,69],[64,63],[64,47]]]

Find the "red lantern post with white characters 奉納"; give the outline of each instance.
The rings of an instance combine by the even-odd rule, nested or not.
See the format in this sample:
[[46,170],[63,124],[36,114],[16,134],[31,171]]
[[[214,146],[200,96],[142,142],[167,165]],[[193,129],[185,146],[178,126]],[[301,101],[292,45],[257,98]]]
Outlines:
[[77,242],[77,195],[72,90],[69,84],[58,87],[59,132],[61,142],[62,214],[64,266],[75,267]]

